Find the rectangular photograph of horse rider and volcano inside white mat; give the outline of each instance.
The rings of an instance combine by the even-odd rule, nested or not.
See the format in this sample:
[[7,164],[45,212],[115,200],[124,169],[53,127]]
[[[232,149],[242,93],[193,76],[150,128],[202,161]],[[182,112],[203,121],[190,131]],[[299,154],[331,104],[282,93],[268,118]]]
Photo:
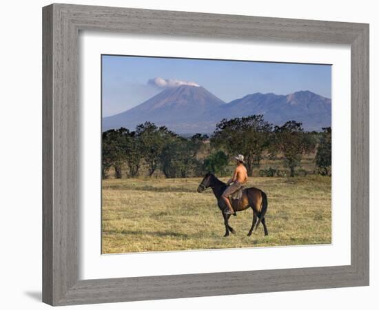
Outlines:
[[101,54],[101,254],[331,244],[331,74]]

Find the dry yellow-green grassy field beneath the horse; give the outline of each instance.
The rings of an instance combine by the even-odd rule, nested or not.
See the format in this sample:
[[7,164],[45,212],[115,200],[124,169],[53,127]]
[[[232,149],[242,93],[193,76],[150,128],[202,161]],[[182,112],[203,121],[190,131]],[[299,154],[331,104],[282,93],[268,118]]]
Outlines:
[[196,192],[201,178],[103,180],[103,254],[316,245],[331,242],[331,178],[250,178],[268,196],[269,236],[263,227],[247,237],[252,210],[238,212],[225,227],[208,189]]

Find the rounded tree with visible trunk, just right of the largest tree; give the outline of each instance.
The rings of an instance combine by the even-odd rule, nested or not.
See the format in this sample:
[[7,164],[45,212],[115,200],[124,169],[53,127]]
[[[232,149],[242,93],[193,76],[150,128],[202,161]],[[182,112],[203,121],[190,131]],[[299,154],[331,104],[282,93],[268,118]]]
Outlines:
[[282,152],[290,176],[295,176],[295,169],[300,165],[301,156],[313,152],[316,147],[314,136],[305,133],[302,123],[287,121],[283,126],[275,126],[272,143],[278,152]]

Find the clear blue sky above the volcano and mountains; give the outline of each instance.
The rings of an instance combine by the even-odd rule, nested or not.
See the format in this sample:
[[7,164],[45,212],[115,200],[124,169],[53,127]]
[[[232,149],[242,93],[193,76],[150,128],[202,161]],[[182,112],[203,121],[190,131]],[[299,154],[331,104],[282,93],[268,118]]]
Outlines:
[[138,56],[102,56],[103,116],[143,103],[167,85],[163,79],[193,82],[225,102],[254,92],[291,94],[310,90],[331,98],[331,65],[215,61]]

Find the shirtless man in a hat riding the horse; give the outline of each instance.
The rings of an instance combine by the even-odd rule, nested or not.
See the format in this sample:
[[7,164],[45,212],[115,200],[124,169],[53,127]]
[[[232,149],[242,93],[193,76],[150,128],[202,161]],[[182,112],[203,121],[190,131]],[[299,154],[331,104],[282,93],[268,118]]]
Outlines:
[[234,170],[233,177],[227,181],[227,185],[229,186],[225,189],[222,196],[227,205],[225,214],[235,213],[232,205],[230,205],[229,196],[238,191],[247,182],[247,169],[243,165],[245,163],[243,155],[238,155],[234,159],[237,161],[237,167]]

